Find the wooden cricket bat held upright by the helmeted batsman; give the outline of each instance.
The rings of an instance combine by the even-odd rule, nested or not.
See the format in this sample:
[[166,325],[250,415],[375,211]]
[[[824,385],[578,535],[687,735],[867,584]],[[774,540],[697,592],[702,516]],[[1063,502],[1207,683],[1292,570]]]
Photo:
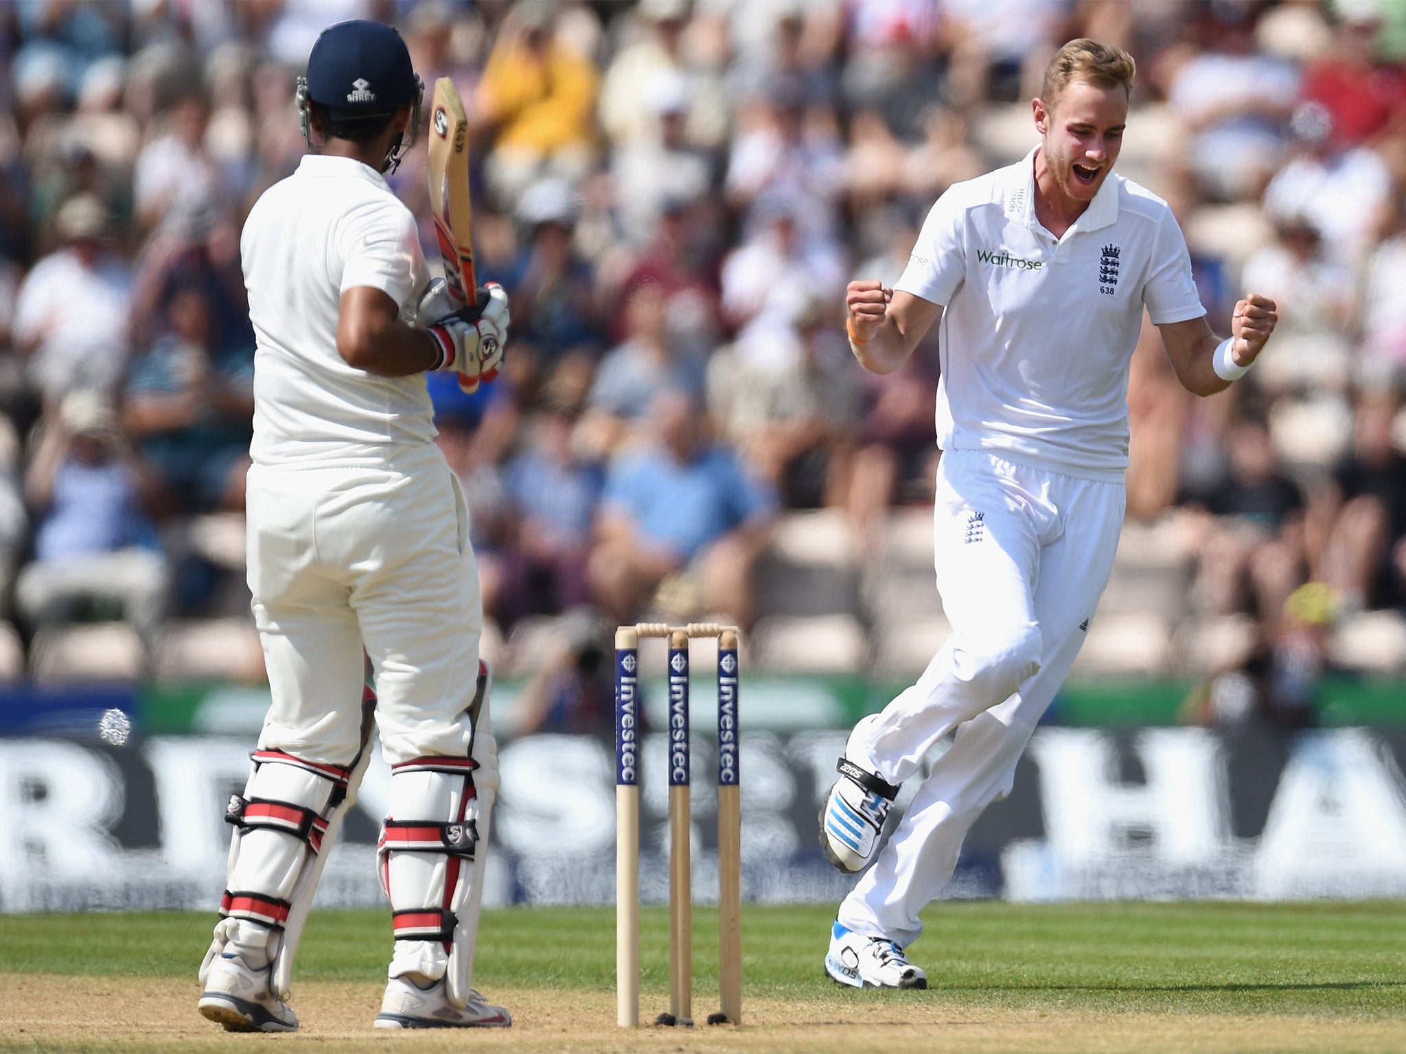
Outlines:
[[[474,273],[474,204],[468,195],[468,118],[458,89],[449,77],[434,82],[430,104],[430,212],[444,261],[444,284],[454,308],[474,302],[478,278]],[[464,385],[465,392],[478,389]]]

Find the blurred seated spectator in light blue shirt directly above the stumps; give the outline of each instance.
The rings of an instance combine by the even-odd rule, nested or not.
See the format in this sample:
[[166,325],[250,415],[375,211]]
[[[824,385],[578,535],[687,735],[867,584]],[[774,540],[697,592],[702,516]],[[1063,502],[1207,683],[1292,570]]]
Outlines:
[[616,623],[633,623],[668,580],[671,616],[707,611],[745,625],[775,497],[704,438],[685,392],[658,395],[650,424],[655,443],[623,455],[606,479],[589,565],[596,603]]

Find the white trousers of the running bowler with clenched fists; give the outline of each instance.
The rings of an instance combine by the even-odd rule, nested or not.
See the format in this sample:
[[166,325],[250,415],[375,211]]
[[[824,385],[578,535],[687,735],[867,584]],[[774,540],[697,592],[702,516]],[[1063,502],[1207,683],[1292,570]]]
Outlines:
[[949,450],[938,467],[934,562],[952,634],[918,683],[849,738],[846,756],[903,783],[945,735],[839,923],[900,947],[952,878],[966,832],[1011,791],[1015,762],[1084,642],[1108,585],[1125,489]]

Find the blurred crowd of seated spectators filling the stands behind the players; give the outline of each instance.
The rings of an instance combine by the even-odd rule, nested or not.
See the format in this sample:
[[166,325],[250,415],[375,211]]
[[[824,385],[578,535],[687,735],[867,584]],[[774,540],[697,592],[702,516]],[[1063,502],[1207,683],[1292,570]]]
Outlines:
[[[305,150],[312,41],[352,17],[396,25],[474,129],[478,274],[509,291],[512,346],[479,395],[430,384],[502,637],[561,613],[571,639],[752,625],[786,517],[828,510],[862,561],[931,500],[935,343],[865,374],[844,287],[896,281],[948,186],[1024,156],[1080,35],[1137,59],[1121,169],[1177,211],[1212,325],[1246,288],[1281,305],[1226,395],[1182,392],[1154,330],[1135,357],[1129,516],[1175,526],[1185,616],[1234,620],[1216,662],[1270,670],[1251,705],[1272,708],[1285,665],[1331,665],[1327,630],[1406,606],[1395,0],[0,0],[0,597],[22,646],[121,618],[149,673],[172,620],[247,603],[201,544],[247,465],[239,229]],[[423,145],[389,180],[433,260]],[[581,655],[543,720],[589,694]]]

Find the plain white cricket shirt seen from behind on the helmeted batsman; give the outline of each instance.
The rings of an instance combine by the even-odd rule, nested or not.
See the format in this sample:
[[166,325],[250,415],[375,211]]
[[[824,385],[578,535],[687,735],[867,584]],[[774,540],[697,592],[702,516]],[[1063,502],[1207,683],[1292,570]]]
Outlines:
[[375,377],[337,351],[346,289],[381,289],[413,319],[430,280],[415,216],[380,173],[304,157],[254,202],[239,249],[257,339],[256,464],[382,464],[433,441],[425,374]]

